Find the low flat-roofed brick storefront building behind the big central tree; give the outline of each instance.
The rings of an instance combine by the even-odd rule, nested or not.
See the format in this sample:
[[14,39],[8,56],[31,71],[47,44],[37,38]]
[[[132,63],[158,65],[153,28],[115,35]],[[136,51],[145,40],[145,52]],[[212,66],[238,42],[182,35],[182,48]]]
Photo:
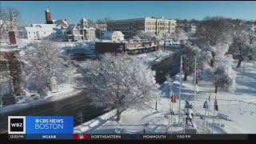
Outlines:
[[159,40],[143,42],[95,42],[95,50],[99,54],[104,53],[127,53],[142,54],[159,50]]

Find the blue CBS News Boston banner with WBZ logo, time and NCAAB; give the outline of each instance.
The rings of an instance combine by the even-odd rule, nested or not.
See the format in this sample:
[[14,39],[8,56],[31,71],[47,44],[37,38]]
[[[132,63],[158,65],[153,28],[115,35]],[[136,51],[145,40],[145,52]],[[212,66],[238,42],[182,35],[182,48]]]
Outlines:
[[73,139],[73,116],[8,116],[9,139]]

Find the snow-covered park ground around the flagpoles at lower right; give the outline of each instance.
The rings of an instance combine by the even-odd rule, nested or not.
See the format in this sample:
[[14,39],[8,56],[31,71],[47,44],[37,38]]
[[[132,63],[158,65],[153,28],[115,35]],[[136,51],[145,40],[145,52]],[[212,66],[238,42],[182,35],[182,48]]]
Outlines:
[[[234,63],[235,66],[236,63]],[[229,116],[229,121],[221,118],[215,118],[214,134],[254,134],[256,133],[256,64],[246,63],[245,68],[235,69],[238,71],[236,80],[236,91],[234,93],[227,93],[218,91],[218,113]],[[241,71],[242,70],[242,71]],[[240,72],[239,72],[240,71]],[[243,75],[243,76],[242,76]],[[178,98],[178,75],[174,81],[173,91]],[[197,94],[195,108],[196,108],[196,125],[198,133],[203,133],[203,120],[205,111],[202,106],[209,97],[210,92],[214,91],[214,86],[211,82],[198,82],[199,93]],[[149,110],[126,110],[122,113],[122,120],[115,122],[114,111],[103,114],[101,117],[95,118],[90,122],[86,122],[81,126],[74,127],[74,133],[88,133],[88,134],[114,134],[115,130],[122,127],[122,133],[142,133],[144,126],[146,126],[146,133],[166,133],[166,125],[169,122],[168,116],[165,115],[170,109],[170,96],[167,95],[166,82],[162,84],[163,98],[158,99],[158,110],[155,108],[155,99],[149,102],[151,109]],[[207,129],[204,133],[211,133],[213,121],[213,106],[215,94],[211,94],[210,99],[210,116],[209,125],[206,122]],[[193,78],[188,77],[187,82],[182,84],[182,102],[181,107],[185,105],[185,99],[193,102],[194,100],[194,85]],[[182,133],[182,127],[178,127],[178,102],[174,103],[174,127],[173,133]]]

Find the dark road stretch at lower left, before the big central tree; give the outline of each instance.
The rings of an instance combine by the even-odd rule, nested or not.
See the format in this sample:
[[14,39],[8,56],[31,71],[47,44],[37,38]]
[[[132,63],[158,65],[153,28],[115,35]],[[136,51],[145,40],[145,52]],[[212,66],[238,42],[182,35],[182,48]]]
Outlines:
[[78,117],[79,111],[82,111],[82,122],[87,122],[90,119],[96,118],[101,114],[106,113],[103,108],[95,107],[90,105],[90,98],[86,97],[86,94],[80,93],[76,94],[71,98],[62,99],[57,102],[50,102],[40,106],[30,107],[28,109],[23,109],[9,114],[4,114],[0,116],[0,133],[8,130],[7,120],[8,116],[74,116],[74,126],[81,124]]

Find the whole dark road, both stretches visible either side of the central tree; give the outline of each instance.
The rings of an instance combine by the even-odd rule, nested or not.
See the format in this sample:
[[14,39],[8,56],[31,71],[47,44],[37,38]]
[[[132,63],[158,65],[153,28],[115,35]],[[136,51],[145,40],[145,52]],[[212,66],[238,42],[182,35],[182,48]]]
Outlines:
[[[157,65],[152,66],[152,70],[156,70],[156,81],[161,84],[166,81],[166,74],[174,76],[179,71],[179,58],[166,58]],[[90,98],[85,93],[76,94],[71,98],[62,99],[57,102],[50,102],[40,106],[34,106],[27,109],[15,111],[9,114],[0,116],[0,133],[7,130],[8,115],[36,115],[36,116],[74,116],[74,126],[81,124],[79,122],[79,111],[82,111],[82,122],[90,121],[97,118],[99,115],[106,113],[104,108],[99,108],[90,105]]]

